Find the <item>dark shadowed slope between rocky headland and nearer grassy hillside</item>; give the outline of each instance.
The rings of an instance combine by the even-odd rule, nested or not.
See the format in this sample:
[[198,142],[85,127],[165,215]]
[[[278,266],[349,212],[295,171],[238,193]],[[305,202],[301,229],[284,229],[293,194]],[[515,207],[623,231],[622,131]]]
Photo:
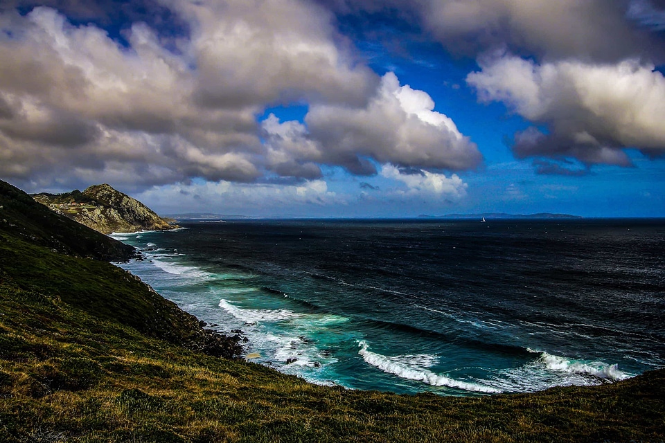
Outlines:
[[75,257],[125,261],[136,255],[132,246],[48,210],[26,192],[0,180],[2,233]]

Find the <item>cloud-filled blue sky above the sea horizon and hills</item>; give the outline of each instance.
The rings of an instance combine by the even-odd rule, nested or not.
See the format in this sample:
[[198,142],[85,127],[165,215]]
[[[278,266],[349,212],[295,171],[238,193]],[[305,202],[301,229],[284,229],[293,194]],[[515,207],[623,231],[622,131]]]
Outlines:
[[665,217],[665,0],[0,0],[0,179],[158,213]]

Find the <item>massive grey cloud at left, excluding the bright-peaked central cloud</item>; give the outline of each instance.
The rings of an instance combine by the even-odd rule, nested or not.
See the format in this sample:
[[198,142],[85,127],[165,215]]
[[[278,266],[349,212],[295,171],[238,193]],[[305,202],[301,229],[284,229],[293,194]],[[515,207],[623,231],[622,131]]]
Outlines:
[[378,77],[353,60],[332,17],[292,0],[168,6],[190,28],[176,43],[141,22],[123,44],[51,8],[0,12],[3,177],[254,181],[266,164],[320,177],[317,165],[292,170],[267,152],[256,115],[282,100],[366,102]]

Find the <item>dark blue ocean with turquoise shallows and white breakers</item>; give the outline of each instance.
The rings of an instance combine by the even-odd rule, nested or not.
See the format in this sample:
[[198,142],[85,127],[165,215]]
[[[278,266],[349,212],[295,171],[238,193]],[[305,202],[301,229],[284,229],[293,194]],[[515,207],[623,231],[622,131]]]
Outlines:
[[252,361],[490,395],[665,367],[663,220],[228,220],[113,235],[119,264]]

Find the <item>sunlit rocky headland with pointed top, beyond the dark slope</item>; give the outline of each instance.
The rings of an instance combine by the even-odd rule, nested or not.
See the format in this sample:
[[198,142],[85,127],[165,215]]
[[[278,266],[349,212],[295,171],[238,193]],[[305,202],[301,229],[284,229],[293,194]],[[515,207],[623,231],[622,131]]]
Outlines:
[[90,186],[83,192],[42,192],[33,195],[33,199],[103,234],[177,228],[148,206],[107,184]]

